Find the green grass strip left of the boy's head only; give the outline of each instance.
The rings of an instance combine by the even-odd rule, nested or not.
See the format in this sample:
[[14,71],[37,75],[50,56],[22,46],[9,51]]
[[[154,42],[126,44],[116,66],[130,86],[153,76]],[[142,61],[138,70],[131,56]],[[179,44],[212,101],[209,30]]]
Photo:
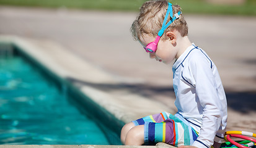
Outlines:
[[0,5],[69,9],[136,10],[144,0],[0,0]]

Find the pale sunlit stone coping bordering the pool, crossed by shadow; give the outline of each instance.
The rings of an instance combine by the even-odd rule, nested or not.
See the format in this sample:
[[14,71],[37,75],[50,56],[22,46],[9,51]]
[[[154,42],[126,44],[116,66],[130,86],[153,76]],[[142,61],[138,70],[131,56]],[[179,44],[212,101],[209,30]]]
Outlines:
[[[60,78],[64,80],[73,80],[71,83],[74,84],[79,91],[86,94],[92,101],[112,113],[115,118],[123,121],[123,123],[128,123],[137,118],[163,111],[174,113],[174,110],[169,109],[167,105],[146,99],[146,97],[133,94],[127,90],[114,90],[109,92],[95,88],[93,85],[90,86],[89,84],[130,84],[136,82],[129,78],[123,78],[108,73],[100,67],[90,64],[89,61],[81,59],[79,55],[75,55],[58,43],[10,35],[0,35],[0,43],[11,43],[19,46],[20,49],[34,59],[37,59],[40,64],[48,68],[48,70],[51,70],[55,75],[60,76]],[[143,104],[143,106],[141,104]],[[38,146],[36,145],[36,147]],[[46,145],[45,147],[48,146],[56,145]],[[66,145],[60,146],[64,147]],[[71,145],[68,146],[70,147]],[[92,145],[79,146],[90,147]]]

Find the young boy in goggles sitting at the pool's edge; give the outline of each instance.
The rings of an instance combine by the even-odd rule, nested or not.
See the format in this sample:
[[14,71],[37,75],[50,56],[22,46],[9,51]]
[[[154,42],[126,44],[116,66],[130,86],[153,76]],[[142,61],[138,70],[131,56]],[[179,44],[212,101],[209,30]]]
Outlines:
[[216,65],[188,39],[180,7],[168,1],[148,1],[131,26],[133,37],[151,59],[170,64],[174,72],[178,112],[149,115],[121,130],[126,145],[166,142],[177,147],[219,147],[227,123],[226,96]]

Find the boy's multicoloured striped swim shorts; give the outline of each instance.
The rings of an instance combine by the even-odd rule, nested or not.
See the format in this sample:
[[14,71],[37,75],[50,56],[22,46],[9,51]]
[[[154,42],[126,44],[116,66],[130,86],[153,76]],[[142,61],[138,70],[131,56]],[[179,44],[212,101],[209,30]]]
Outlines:
[[172,146],[191,146],[198,133],[179,114],[172,115],[167,112],[149,115],[133,121],[135,126],[144,125],[145,145],[154,145],[165,142]]

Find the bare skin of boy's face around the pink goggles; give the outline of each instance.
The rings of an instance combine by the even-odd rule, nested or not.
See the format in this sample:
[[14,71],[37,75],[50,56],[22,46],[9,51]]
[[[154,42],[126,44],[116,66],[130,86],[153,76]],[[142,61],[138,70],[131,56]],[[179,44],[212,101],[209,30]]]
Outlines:
[[[156,38],[149,35],[144,35],[143,37],[139,38],[139,42],[146,47],[149,43],[153,42]],[[156,59],[159,62],[163,62],[164,64],[170,64],[172,60],[175,59],[177,51],[175,51],[174,47],[170,40],[162,41],[160,39],[159,43],[157,44],[156,52],[148,52],[149,57],[151,59]]]

